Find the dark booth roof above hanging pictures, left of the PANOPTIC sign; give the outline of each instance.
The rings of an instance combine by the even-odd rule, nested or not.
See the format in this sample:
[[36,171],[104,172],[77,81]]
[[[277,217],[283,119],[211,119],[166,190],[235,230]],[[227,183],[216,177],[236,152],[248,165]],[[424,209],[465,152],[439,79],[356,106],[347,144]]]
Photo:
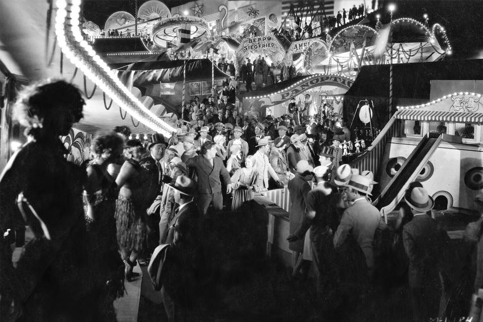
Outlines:
[[[155,71],[157,83],[175,83],[183,81],[183,60],[164,60],[135,62],[132,64],[110,64],[109,67],[119,71]],[[215,66],[215,79],[229,78]],[[186,81],[211,80],[211,60],[186,59]]]

